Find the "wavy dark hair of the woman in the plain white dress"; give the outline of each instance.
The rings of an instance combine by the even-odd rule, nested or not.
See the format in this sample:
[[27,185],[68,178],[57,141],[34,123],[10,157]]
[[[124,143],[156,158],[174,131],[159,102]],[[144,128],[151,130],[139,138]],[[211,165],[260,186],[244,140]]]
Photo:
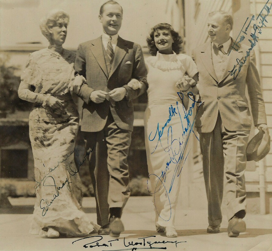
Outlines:
[[152,56],[156,56],[157,55],[157,51],[158,48],[155,45],[155,41],[154,41],[154,32],[158,31],[158,30],[168,30],[171,33],[171,36],[173,38],[173,43],[172,43],[172,50],[176,53],[179,54],[180,51],[182,50],[182,38],[179,35],[178,32],[174,31],[174,29],[172,28],[172,26],[170,24],[166,24],[166,23],[161,23],[161,24],[157,24],[154,27],[151,28],[149,37],[147,37],[147,46],[149,48],[149,53]]

